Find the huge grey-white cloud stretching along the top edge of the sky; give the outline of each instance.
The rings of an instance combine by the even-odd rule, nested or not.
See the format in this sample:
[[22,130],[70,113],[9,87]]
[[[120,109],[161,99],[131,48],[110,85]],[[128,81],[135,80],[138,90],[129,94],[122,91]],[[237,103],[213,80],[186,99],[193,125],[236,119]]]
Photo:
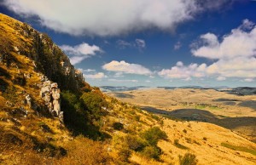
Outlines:
[[202,10],[221,8],[227,1],[3,0],[3,4],[16,14],[38,16],[43,26],[55,31],[113,36],[148,28],[173,30]]

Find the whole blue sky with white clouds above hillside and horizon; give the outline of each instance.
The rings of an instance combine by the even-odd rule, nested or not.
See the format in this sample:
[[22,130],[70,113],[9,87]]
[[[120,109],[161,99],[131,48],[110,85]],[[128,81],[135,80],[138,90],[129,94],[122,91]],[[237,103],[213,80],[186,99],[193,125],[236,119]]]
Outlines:
[[92,86],[256,87],[254,0],[2,0]]

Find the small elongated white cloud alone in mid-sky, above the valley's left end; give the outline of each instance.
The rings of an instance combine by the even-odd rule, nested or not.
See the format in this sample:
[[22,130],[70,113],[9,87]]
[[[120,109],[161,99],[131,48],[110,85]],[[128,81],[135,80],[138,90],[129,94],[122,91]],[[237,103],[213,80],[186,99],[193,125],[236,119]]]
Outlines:
[[152,72],[148,70],[148,68],[145,68],[143,65],[126,63],[124,60],[121,60],[120,62],[113,60],[108,64],[102,65],[102,69],[106,71],[116,71],[138,75],[152,74]]

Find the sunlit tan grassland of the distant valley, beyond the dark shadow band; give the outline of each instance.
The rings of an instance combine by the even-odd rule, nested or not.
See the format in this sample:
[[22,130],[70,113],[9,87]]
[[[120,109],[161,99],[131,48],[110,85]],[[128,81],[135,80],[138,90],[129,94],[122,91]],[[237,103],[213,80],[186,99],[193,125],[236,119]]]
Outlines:
[[[256,111],[252,108],[238,105],[241,101],[256,100],[255,95],[237,96],[226,94],[213,89],[189,89],[177,88],[166,90],[162,88],[125,91],[121,94],[129,94],[131,97],[119,97],[119,100],[140,106],[152,106],[160,110],[173,111],[182,108],[196,108],[211,111],[215,115],[225,117],[256,117]],[[115,93],[108,93],[117,97]],[[218,99],[238,100],[236,105],[225,105],[225,101]],[[226,101],[228,102],[228,101]],[[232,101],[231,101],[232,102]],[[210,106],[200,106],[201,104]],[[217,106],[217,108],[213,108]]]

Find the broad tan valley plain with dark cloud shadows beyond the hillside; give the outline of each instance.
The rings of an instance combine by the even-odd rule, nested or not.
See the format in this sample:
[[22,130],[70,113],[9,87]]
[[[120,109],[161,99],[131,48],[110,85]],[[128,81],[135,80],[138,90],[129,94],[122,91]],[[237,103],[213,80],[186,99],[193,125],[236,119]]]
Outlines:
[[152,88],[108,95],[161,116],[214,123],[256,141],[255,95],[193,88]]

